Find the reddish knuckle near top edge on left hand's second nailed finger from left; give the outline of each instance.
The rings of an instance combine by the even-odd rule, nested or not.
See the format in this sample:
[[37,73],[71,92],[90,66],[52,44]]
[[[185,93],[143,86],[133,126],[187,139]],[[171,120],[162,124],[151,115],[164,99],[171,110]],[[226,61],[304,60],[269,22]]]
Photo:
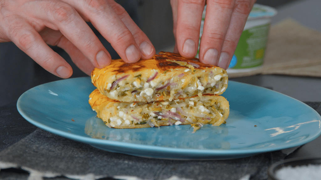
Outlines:
[[74,17],[74,13],[74,8],[62,2],[55,3],[51,10],[52,19],[59,23],[70,22]]

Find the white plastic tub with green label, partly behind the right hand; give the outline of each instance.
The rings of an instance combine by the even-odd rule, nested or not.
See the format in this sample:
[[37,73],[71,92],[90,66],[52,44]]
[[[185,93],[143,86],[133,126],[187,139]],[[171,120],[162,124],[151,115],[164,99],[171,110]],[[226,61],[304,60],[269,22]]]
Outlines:
[[[200,40],[203,34],[206,6],[203,11]],[[271,18],[276,14],[272,7],[254,4],[227,72],[246,72],[263,65]],[[199,48],[199,46],[198,46]],[[197,55],[198,57],[198,51]]]

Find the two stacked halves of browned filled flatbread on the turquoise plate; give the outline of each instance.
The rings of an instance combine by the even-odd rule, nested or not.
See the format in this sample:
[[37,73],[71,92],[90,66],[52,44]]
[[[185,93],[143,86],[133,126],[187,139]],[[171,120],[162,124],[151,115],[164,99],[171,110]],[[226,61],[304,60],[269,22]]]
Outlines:
[[153,59],[125,63],[113,60],[94,69],[97,87],[91,108],[108,127],[142,128],[191,124],[219,126],[229,116],[229,103],[220,96],[228,84],[226,70],[160,52]]

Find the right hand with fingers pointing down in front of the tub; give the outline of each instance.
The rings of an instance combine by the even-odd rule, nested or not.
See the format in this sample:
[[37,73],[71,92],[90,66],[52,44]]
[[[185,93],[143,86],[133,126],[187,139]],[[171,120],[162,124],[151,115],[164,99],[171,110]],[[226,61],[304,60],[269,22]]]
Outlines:
[[[256,0],[206,0],[199,59],[227,69],[247,16]],[[205,0],[171,0],[174,53],[191,58],[197,53]]]

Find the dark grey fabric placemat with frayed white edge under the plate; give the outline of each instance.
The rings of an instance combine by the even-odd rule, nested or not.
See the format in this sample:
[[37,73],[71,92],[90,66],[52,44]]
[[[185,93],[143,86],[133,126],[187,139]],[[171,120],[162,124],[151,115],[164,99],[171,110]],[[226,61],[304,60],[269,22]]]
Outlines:
[[[321,112],[321,103],[307,104]],[[286,155],[273,151],[231,160],[150,159],[102,151],[38,128],[0,152],[0,168],[22,168],[30,172],[29,179],[265,180],[268,167]]]

